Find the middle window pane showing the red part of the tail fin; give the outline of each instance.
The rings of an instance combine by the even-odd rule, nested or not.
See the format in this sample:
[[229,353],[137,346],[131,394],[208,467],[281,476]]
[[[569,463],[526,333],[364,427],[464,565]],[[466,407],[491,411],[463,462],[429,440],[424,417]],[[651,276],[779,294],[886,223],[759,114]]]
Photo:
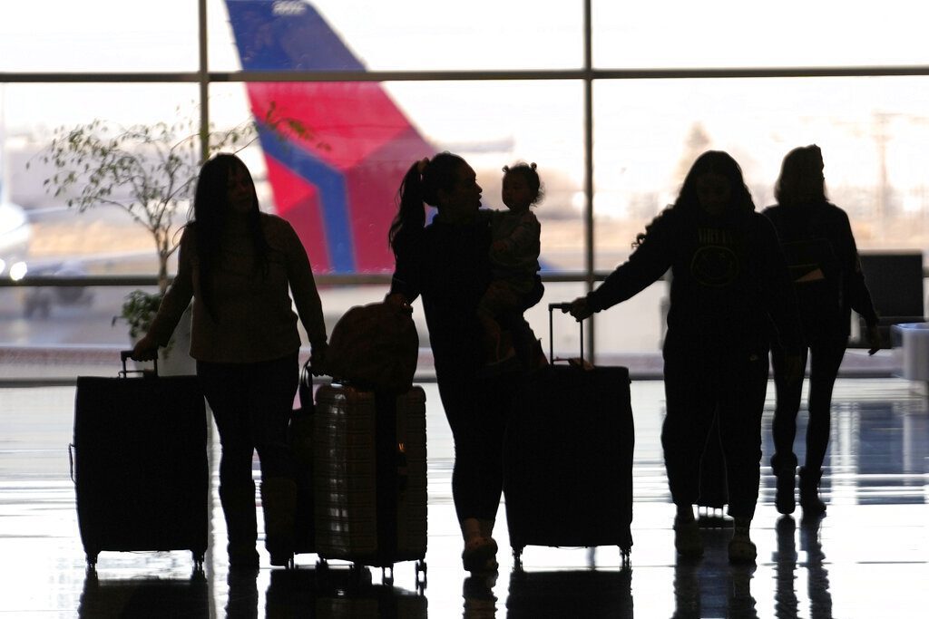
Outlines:
[[[249,112],[236,89],[214,87],[214,117]],[[395,196],[414,161],[449,150],[478,173],[484,203],[504,209],[502,167],[534,161],[546,187],[542,260],[582,268],[583,147],[580,82],[397,82],[245,84],[258,121],[294,121],[305,135],[263,128],[269,208],[304,240],[319,273],[389,273],[387,230]],[[260,172],[265,169],[267,174]]]

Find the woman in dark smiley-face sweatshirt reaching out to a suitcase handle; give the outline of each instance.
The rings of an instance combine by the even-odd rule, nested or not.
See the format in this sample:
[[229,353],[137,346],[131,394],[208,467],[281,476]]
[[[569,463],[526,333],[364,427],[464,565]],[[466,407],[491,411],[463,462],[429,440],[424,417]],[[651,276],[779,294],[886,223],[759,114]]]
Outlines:
[[754,561],[749,529],[758,500],[772,325],[799,374],[799,320],[774,227],[755,213],[739,164],[708,151],[635,245],[599,288],[571,303],[570,314],[582,320],[621,303],[671,269],[661,445],[676,506],[674,546],[686,558],[703,552],[692,506],[700,455],[717,415],[734,518],[729,560]]

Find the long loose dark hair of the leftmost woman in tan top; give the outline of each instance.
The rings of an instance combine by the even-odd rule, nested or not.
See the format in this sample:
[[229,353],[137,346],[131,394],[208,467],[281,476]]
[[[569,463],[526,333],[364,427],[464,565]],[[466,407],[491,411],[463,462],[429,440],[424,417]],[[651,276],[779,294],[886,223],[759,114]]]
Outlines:
[[[229,222],[229,175],[241,170],[252,180],[252,174],[241,159],[229,153],[219,153],[203,163],[197,177],[193,197],[194,238],[197,240],[197,258],[200,262],[200,282],[206,311],[216,319],[213,303],[213,273],[219,261],[220,241]],[[261,229],[261,212],[255,182],[252,182],[252,209],[246,216],[249,237],[255,248],[255,269],[262,276],[268,270],[268,240]]]

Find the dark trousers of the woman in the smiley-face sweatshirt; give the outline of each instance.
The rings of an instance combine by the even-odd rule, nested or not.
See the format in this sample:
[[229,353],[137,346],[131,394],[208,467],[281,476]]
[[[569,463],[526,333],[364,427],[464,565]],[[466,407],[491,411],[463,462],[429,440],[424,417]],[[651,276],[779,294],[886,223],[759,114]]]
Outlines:
[[[698,354],[694,354],[698,353]],[[729,515],[752,518],[761,473],[761,418],[767,391],[767,351],[717,355],[665,351],[667,414],[661,445],[675,505],[694,505],[700,456],[718,415],[726,458]]]

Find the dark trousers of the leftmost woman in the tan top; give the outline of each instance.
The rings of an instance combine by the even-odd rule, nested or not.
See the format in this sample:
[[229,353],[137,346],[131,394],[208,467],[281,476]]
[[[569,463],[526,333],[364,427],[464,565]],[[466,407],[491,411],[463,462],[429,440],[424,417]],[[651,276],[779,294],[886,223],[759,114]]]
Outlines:
[[255,450],[262,478],[293,477],[287,426],[299,380],[297,353],[259,363],[198,361],[197,376],[219,431],[220,489],[254,488]]

